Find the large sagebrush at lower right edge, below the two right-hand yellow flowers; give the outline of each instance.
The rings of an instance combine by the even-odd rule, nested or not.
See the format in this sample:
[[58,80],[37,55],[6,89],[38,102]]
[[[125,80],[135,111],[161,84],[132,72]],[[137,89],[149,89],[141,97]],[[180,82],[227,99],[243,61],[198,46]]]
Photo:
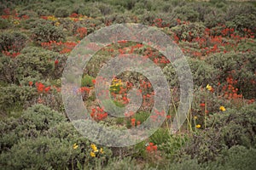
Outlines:
[[255,104],[241,110],[227,110],[216,113],[207,119],[207,131],[195,133],[193,139],[184,149],[182,155],[189,155],[199,162],[216,161],[222,150],[235,145],[254,147],[255,138]]

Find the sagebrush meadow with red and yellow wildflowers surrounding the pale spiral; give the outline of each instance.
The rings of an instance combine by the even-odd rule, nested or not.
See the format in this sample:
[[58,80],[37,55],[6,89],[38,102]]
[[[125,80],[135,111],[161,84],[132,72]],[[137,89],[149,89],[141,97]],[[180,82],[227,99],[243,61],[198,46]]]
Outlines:
[[[183,125],[171,132],[182,105],[180,81],[186,78],[177,77],[172,60],[143,42],[92,46],[98,51],[74,89],[88,111],[84,116],[103,127],[128,131],[147,120],[163,120],[137,144],[108,147],[85,138],[73,126],[63,103],[61,78],[84,37],[125,23],[150,26],[172,38],[189,65],[193,100]],[[255,26],[253,1],[0,0],[0,168],[253,170]],[[129,91],[136,88],[142,97],[138,110],[115,117],[99,105],[97,98],[105,91],[96,90],[98,73],[115,56],[128,54],[149,59],[163,72],[172,97],[167,111],[151,113],[154,84],[133,71],[115,75],[108,92],[115,107],[125,108],[131,102]],[[93,132],[94,127],[86,128]]]

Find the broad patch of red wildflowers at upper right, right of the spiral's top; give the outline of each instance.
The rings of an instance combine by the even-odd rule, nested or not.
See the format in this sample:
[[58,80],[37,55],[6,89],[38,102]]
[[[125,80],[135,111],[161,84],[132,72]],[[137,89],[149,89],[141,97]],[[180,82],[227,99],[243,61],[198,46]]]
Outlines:
[[[177,19],[178,25],[181,25],[181,20]],[[186,25],[189,22],[185,22]],[[244,29],[244,36],[238,35],[234,28],[228,28],[224,25],[218,25],[218,29],[206,28],[201,37],[195,37],[195,32],[189,31],[188,37],[181,39],[180,35],[174,34],[173,38],[176,43],[183,42],[195,42],[198,43],[199,49],[182,48],[184,54],[189,54],[195,57],[207,56],[209,54],[215,54],[219,52],[228,53],[232,50],[237,50],[239,42],[252,41],[248,38],[254,38],[253,31],[250,29]],[[226,38],[230,38],[234,41],[226,41]],[[250,50],[250,49],[248,49]]]

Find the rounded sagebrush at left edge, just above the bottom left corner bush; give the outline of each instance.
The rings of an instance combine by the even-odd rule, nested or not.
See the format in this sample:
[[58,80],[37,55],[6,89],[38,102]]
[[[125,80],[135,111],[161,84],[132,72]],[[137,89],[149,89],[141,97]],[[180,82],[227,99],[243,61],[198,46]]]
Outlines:
[[23,111],[20,118],[1,121],[1,150],[9,150],[19,139],[37,138],[50,127],[65,120],[65,116],[49,107],[33,105]]

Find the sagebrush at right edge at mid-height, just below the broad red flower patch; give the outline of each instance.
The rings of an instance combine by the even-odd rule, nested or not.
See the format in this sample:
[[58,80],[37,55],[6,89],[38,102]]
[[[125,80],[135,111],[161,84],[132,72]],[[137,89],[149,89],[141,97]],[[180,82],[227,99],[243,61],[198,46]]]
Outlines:
[[255,98],[253,82],[256,80],[254,71],[256,65],[255,51],[247,53],[213,54],[207,59],[207,63],[218,69],[219,82],[225,82],[226,78],[232,76],[237,80],[236,88],[246,98]]

